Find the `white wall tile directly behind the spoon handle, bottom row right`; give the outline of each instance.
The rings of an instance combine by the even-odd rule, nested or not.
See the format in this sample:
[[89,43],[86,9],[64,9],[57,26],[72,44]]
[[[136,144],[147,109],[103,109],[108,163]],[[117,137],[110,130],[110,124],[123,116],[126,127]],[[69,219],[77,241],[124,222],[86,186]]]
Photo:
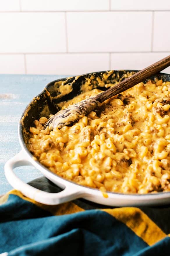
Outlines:
[[[114,53],[111,54],[111,69],[143,69],[170,55],[164,53]],[[170,67],[162,72],[170,73]]]

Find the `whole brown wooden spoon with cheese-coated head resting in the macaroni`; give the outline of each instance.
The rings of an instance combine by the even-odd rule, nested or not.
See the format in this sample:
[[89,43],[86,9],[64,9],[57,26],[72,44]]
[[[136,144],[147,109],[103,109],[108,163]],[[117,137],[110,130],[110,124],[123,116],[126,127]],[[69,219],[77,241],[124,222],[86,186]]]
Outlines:
[[124,92],[134,85],[144,81],[146,78],[149,78],[150,76],[162,71],[168,66],[170,66],[170,55],[148,66],[147,68],[138,71],[134,75],[126,78],[119,84],[110,87],[108,90],[96,95],[95,97],[90,97],[89,99],[85,99],[81,102],[70,105],[66,109],[60,110],[58,113],[48,119],[48,121],[45,123],[44,129],[47,128],[47,126],[49,126],[49,130],[52,130],[53,128],[62,128],[63,126],[82,118],[94,110],[99,103],[104,102],[106,99],[109,99],[110,97],[113,97],[121,92]]

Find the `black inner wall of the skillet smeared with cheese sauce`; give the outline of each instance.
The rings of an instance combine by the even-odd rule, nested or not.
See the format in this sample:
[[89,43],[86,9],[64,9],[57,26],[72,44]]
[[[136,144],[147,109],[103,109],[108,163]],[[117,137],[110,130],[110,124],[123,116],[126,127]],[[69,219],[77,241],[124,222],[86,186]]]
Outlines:
[[[59,107],[57,104],[79,95],[81,93],[82,85],[86,83],[88,78],[91,79],[91,84],[93,85],[91,89],[98,88],[100,90],[107,90],[109,87],[106,88],[105,84],[107,84],[108,81],[112,84],[114,84],[116,81],[120,82],[121,80],[125,79],[125,74],[129,74],[131,72],[133,74],[137,72],[137,70],[101,71],[88,73],[77,77],[62,78],[50,82],[45,89],[31,101],[23,113],[24,119],[21,122],[20,133],[22,133],[24,142],[26,142],[28,138],[27,132],[29,131],[29,127],[34,126],[34,120],[39,119],[42,116],[49,118],[49,114],[55,114],[58,112]],[[98,81],[96,78],[102,80],[103,74],[108,74],[108,78],[104,81],[105,84],[101,87],[98,86]],[[154,80],[154,78],[158,78],[159,80],[162,79],[163,81],[170,81],[170,74],[158,73],[150,77],[152,80]],[[64,81],[64,86],[71,85],[72,91],[64,96],[56,97],[60,94],[58,88],[61,81]]]

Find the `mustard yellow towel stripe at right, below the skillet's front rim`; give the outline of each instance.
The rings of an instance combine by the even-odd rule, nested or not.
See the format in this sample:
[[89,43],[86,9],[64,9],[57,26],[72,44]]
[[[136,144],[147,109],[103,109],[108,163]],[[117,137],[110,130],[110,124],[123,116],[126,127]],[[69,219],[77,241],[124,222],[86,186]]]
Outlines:
[[137,207],[103,210],[126,224],[126,226],[150,246],[166,237],[166,234]]

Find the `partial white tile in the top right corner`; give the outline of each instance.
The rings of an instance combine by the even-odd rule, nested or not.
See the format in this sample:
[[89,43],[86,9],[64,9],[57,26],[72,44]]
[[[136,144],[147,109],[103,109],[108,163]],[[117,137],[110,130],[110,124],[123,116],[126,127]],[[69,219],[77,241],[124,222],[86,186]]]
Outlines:
[[111,0],[111,10],[170,10],[169,0]]

